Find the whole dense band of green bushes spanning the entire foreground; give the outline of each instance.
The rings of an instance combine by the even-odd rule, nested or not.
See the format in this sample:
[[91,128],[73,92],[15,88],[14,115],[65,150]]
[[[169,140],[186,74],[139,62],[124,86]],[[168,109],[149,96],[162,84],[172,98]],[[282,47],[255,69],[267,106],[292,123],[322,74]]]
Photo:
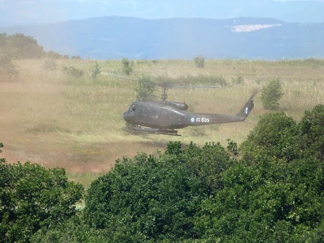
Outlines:
[[[238,148],[170,142],[83,188],[63,169],[4,161],[4,242],[324,242],[324,105],[263,115]],[[28,223],[32,222],[32,223]]]

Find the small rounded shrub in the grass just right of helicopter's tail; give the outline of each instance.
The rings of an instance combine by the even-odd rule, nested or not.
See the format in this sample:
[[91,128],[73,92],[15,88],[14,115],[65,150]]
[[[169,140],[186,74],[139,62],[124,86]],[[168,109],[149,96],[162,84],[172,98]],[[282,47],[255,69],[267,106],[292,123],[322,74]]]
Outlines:
[[267,86],[261,90],[261,101],[263,107],[267,110],[277,110],[279,108],[278,101],[284,95],[282,93],[282,85],[278,79],[270,80]]

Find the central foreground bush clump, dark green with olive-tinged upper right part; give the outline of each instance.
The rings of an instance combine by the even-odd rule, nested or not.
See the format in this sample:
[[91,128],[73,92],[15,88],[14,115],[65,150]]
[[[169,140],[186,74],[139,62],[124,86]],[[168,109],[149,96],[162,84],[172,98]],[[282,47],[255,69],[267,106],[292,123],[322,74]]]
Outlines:
[[[189,160],[190,158],[190,160]],[[118,160],[95,180],[86,196],[84,217],[95,228],[171,241],[194,238],[192,220],[210,188],[220,188],[219,173],[229,154],[219,144],[181,149],[170,142],[164,154],[138,154]]]

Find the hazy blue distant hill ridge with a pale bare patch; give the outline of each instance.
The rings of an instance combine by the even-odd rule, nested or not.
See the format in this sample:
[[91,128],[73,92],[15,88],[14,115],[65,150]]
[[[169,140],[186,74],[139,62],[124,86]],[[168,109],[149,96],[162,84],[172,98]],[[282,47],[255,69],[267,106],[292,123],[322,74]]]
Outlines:
[[0,27],[0,32],[31,35],[47,51],[83,58],[324,58],[324,23],[286,23],[268,18],[100,17]]

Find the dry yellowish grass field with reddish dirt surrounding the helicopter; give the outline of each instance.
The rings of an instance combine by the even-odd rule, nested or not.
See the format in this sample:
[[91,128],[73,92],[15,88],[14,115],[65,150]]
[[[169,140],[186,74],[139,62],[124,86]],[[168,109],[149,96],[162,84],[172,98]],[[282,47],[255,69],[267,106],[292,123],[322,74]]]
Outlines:
[[[168,141],[227,143],[244,141],[263,109],[260,94],[249,123],[205,127],[205,136],[193,136],[190,128],[181,137],[130,135],[123,131],[121,114],[135,101],[134,84],[121,75],[120,61],[98,61],[102,74],[91,77],[93,60],[58,60],[56,70],[44,67],[46,60],[16,61],[19,74],[0,77],[0,142],[9,162],[30,160],[46,167],[64,167],[70,179],[86,186],[110,170],[116,158],[164,149]],[[74,66],[85,71],[74,78],[62,71]],[[324,101],[324,60],[289,61],[208,60],[197,68],[189,60],[135,60],[133,75],[182,84],[220,85],[212,90],[169,90],[172,101],[186,102],[194,112],[235,114],[253,90],[269,79],[279,78],[284,96],[281,111],[299,119],[305,109]],[[160,96],[160,90],[156,90]]]

